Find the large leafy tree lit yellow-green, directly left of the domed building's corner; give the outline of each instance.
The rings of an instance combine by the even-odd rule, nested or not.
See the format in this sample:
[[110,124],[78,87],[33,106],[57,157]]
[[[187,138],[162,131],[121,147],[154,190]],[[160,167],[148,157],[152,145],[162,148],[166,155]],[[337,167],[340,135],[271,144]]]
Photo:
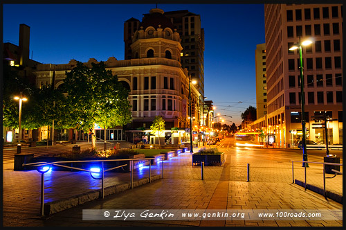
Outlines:
[[91,131],[93,148],[95,124],[107,128],[131,122],[129,91],[118,82],[117,76],[106,70],[103,62],[92,63],[91,68],[78,62],[70,72],[66,71],[64,89],[68,94],[64,125]]

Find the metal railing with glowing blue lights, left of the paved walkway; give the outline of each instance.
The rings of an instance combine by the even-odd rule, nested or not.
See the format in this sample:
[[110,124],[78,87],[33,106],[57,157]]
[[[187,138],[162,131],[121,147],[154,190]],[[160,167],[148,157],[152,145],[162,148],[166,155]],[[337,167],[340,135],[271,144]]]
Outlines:
[[[116,168],[122,168],[124,166],[127,166],[126,164],[123,164],[121,166],[116,166],[113,168],[107,168],[106,170],[104,169],[104,162],[109,162],[109,161],[129,161],[130,163],[130,168],[129,171],[131,172],[130,178],[131,178],[131,189],[134,188],[134,161],[149,161],[149,183],[152,182],[152,160],[155,159],[162,159],[162,171],[161,171],[161,178],[163,178],[163,160],[165,157],[156,157],[156,158],[136,158],[136,159],[107,159],[107,160],[87,160],[87,161],[55,161],[55,162],[35,162],[35,163],[23,163],[23,166],[29,166],[29,167],[36,167],[37,171],[41,173],[41,215],[44,215],[44,174],[48,172],[48,170],[51,169],[51,166],[60,166],[63,168],[71,168],[75,170],[80,170],[80,171],[86,171],[90,172],[91,177],[93,177],[92,174],[100,174],[101,178],[95,178],[93,179],[101,179],[101,197],[104,199],[104,172],[114,170]],[[101,163],[101,168],[100,172],[95,172],[93,170],[87,170],[84,168],[76,168],[72,166],[64,166],[61,163],[85,163],[85,162],[100,162]],[[44,166],[48,168],[44,168]]]

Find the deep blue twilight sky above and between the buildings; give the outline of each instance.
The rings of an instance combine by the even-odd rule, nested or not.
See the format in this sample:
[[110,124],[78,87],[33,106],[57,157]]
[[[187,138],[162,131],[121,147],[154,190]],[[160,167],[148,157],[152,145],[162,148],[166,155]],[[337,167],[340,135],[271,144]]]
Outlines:
[[[156,8],[155,4],[5,4],[3,42],[19,43],[19,24],[30,26],[30,58],[63,64],[93,57],[124,60],[123,24]],[[207,100],[226,121],[256,107],[255,48],[264,39],[263,4],[158,4],[164,11],[201,15],[205,33],[204,85]],[[238,103],[241,101],[242,103]],[[226,122],[228,125],[232,123]]]

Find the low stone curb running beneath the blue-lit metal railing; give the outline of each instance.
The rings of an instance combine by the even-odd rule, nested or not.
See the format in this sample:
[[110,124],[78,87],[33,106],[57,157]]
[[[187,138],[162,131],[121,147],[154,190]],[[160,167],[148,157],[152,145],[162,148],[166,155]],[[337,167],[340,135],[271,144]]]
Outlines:
[[[161,175],[154,175],[152,176],[152,182],[160,178],[161,178]],[[143,178],[134,182],[134,187],[138,187],[147,183],[149,183],[149,177]],[[113,186],[109,186],[107,188],[104,188],[104,197],[114,193],[120,193],[128,189],[131,189],[131,183],[123,183],[123,184],[116,184]],[[90,191],[87,193],[82,193],[80,195],[74,195],[66,199],[57,200],[54,202],[47,202],[44,204],[44,215],[45,216],[51,215],[53,213],[58,213],[66,209],[71,209],[75,206],[84,204],[86,202],[90,202],[92,200],[98,200],[100,196],[101,196],[101,189],[98,189],[96,191]]]

